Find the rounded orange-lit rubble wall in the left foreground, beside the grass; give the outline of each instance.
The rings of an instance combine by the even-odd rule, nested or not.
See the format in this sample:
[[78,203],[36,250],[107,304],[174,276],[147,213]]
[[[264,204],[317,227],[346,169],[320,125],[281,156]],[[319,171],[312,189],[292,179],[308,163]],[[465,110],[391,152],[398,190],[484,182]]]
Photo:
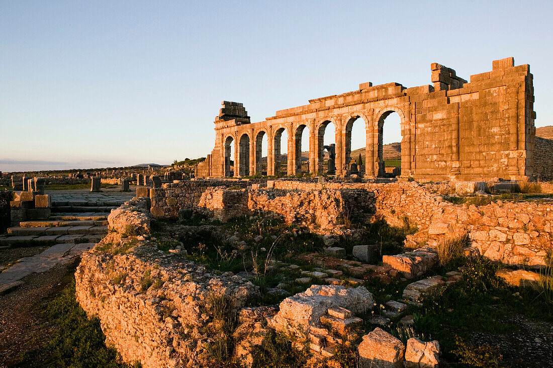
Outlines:
[[[243,312],[255,314],[263,308],[242,308],[257,287],[240,276],[216,276],[178,252],[160,254],[146,236],[146,202],[133,200],[118,208],[117,215],[108,219],[114,231],[82,255],[75,272],[77,302],[88,315],[100,318],[106,343],[129,364],[210,366],[207,345],[216,338],[210,303],[229,298],[240,323],[248,325],[250,319]],[[129,236],[129,226],[143,235]],[[264,317],[260,314],[259,319]],[[243,340],[250,339],[254,331]]]

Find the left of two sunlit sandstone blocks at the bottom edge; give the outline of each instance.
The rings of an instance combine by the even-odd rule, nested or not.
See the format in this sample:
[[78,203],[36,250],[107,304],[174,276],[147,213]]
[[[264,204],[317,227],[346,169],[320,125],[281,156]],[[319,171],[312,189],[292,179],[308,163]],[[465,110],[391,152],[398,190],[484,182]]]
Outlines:
[[359,344],[359,368],[401,368],[405,346],[380,328],[363,336]]

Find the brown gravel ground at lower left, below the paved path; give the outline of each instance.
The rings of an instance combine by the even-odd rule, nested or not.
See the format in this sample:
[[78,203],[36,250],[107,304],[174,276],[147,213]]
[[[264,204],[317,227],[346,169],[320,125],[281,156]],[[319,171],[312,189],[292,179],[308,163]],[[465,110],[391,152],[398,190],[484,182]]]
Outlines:
[[44,306],[71,282],[80,257],[23,278],[22,286],[0,295],[0,368],[11,367],[24,351],[38,348],[48,336]]

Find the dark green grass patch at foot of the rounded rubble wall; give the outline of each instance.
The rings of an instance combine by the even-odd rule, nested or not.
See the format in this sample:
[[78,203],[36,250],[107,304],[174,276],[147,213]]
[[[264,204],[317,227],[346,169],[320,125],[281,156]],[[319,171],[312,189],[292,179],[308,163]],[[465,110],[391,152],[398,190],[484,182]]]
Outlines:
[[48,340],[24,353],[15,367],[130,368],[114,348],[107,348],[100,320],[87,318],[76,302],[75,281],[48,304],[44,314],[51,331]]

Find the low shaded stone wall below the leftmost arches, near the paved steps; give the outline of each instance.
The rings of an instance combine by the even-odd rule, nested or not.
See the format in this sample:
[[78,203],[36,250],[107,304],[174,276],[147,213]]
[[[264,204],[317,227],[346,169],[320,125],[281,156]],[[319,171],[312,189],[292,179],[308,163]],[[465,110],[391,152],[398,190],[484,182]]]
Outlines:
[[246,188],[244,180],[185,180],[166,183],[161,188],[150,189],[152,215],[154,217],[177,217],[179,210],[192,209],[200,202],[202,193],[217,186]]

